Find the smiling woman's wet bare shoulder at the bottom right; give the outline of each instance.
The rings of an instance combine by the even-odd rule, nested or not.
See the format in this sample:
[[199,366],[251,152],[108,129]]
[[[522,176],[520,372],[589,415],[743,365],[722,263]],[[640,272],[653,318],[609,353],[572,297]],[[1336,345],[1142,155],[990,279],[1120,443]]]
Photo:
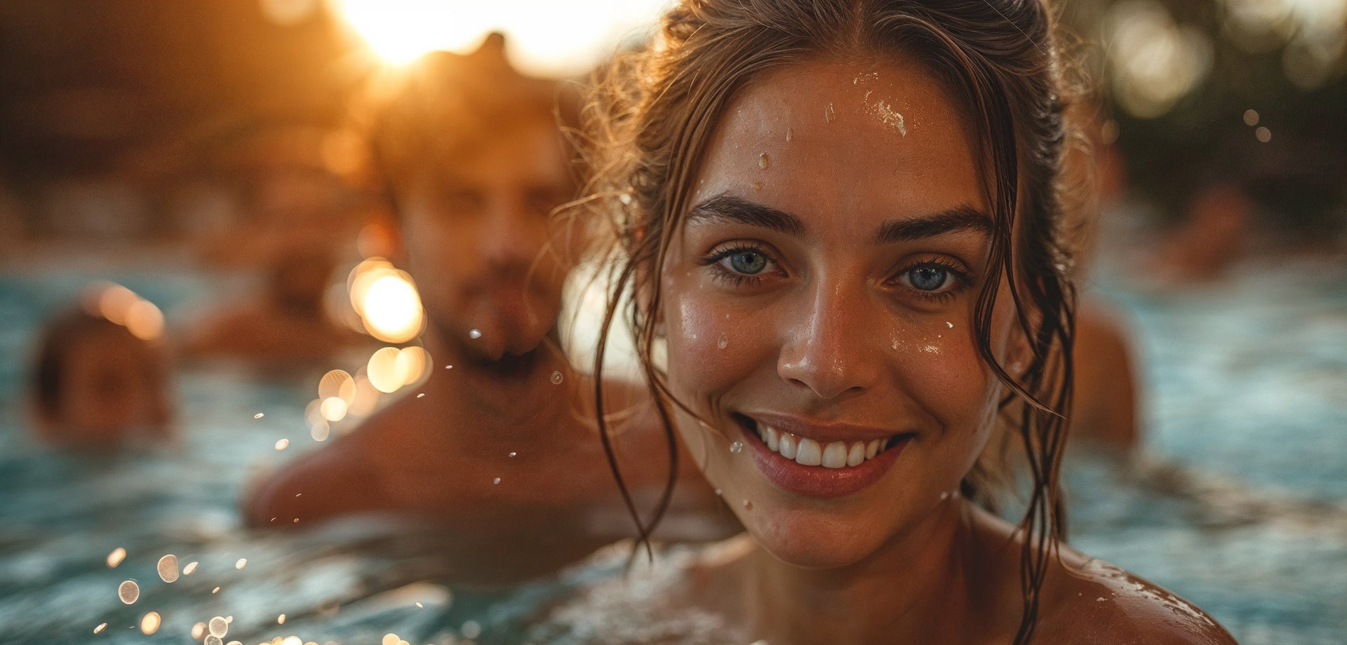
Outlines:
[[1137,575],[1063,548],[1044,588],[1034,641],[1099,645],[1234,645],[1206,611]]

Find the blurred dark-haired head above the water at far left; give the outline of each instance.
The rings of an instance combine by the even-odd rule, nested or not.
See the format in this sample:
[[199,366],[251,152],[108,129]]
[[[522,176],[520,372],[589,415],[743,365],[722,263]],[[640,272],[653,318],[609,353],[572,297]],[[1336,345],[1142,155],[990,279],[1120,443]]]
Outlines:
[[159,310],[125,287],[92,288],[43,329],[31,376],[38,436],[71,450],[174,438]]

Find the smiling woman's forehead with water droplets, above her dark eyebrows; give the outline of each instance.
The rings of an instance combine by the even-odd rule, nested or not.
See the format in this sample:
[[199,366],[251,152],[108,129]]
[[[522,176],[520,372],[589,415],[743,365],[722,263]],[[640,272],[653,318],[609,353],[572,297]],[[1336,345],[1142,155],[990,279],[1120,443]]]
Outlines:
[[726,108],[690,206],[731,194],[877,222],[986,210],[962,114],[938,78],[901,61],[773,70]]

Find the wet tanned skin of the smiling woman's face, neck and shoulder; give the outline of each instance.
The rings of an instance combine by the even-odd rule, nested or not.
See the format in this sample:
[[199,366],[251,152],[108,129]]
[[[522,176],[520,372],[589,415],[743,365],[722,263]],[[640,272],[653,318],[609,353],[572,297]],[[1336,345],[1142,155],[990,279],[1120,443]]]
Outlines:
[[[799,63],[744,89],[702,160],[660,268],[659,331],[696,415],[679,434],[756,540],[684,599],[746,640],[1010,642],[1020,623],[1013,528],[946,494],[1004,392],[973,341],[990,224],[959,114],[901,61]],[[998,288],[991,351],[1009,366],[1025,345]],[[754,423],[893,447],[854,471],[801,466]],[[1200,611],[1138,625],[1168,615],[1154,594],[1084,605],[1102,584],[1053,568],[1036,642],[1228,642]],[[1086,610],[1099,630],[1071,619]]]

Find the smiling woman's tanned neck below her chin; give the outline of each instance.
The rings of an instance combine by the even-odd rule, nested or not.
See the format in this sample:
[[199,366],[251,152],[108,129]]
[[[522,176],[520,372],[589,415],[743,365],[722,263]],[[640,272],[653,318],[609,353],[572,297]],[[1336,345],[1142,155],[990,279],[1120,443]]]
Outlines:
[[773,645],[971,642],[989,632],[998,586],[962,501],[853,566],[807,570],[756,549],[741,566],[744,618]]

